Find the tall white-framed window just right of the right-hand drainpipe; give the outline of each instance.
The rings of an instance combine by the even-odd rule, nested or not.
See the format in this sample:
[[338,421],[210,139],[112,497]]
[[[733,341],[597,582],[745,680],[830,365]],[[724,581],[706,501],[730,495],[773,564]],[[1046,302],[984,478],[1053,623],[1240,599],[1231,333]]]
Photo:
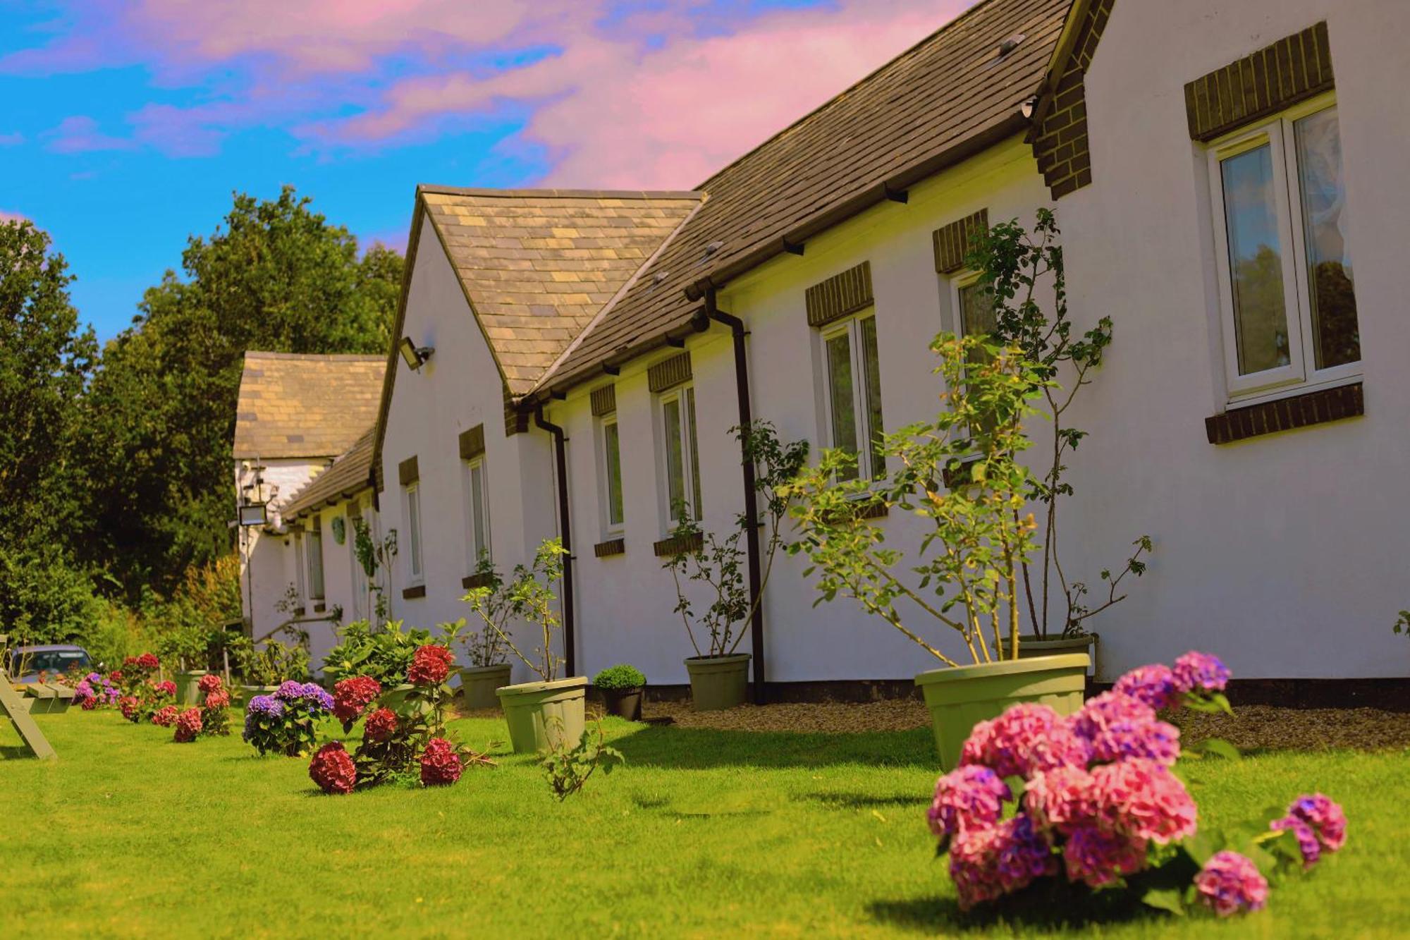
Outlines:
[[[877,354],[877,318],[873,313],[829,326],[822,335],[828,370],[828,423],[830,446],[857,454],[856,470],[867,478],[885,476],[880,443],[881,361]],[[866,453],[862,446],[866,445]]]

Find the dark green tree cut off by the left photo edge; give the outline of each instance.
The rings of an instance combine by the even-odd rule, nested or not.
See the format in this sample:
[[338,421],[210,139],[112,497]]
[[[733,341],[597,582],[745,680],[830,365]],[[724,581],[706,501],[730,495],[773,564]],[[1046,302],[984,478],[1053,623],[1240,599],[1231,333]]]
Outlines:
[[62,536],[79,517],[75,430],[97,353],[49,244],[28,220],[0,223],[0,627],[44,639],[80,629],[92,594]]

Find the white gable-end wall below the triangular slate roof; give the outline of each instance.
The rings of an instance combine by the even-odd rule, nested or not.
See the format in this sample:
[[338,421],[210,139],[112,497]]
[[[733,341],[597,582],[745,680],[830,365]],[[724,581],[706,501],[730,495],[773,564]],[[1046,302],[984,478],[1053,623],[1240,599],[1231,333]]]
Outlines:
[[[461,579],[474,565],[465,548],[460,433],[485,425],[491,548],[501,572],[530,562],[539,542],[557,534],[556,490],[548,435],[537,428],[505,435],[499,371],[429,222],[422,227],[410,278],[403,330],[419,346],[433,346],[436,354],[415,373],[396,363],[382,447],[386,490],[379,501],[384,532],[396,529],[400,550],[389,591],[392,617],[433,628],[470,617],[461,601]],[[426,597],[420,598],[402,597],[410,549],[398,464],[412,456],[420,469],[426,569]],[[515,679],[529,679],[522,663]]]

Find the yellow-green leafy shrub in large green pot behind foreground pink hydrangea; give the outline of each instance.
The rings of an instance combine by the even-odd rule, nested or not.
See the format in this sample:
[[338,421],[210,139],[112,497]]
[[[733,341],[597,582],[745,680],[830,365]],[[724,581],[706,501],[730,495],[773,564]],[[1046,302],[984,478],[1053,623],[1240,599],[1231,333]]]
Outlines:
[[[877,445],[891,457],[891,476],[860,478],[856,454],[828,450],[788,490],[798,497],[792,515],[801,531],[791,550],[811,559],[807,573],[816,574],[822,598],[854,598],[945,666],[915,683],[949,769],[970,728],[1010,704],[1041,701],[1062,714],[1081,707],[1090,661],[1018,658],[1019,576],[1036,528],[1025,508],[1031,474],[1018,454],[1029,446],[1022,428],[1029,402],[1048,380],[1017,347],[946,333],[931,347],[945,380],[940,409]],[[918,558],[902,565],[904,553],[885,545],[873,522],[876,502],[926,521]],[[908,627],[912,610],[953,629],[970,665]]]

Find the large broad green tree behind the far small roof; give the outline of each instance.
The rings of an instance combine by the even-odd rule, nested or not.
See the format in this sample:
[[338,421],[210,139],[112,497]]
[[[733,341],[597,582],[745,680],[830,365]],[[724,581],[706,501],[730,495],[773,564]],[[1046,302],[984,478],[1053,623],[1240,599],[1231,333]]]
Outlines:
[[192,565],[231,548],[231,440],[245,350],[381,353],[402,275],[396,253],[357,239],[285,186],[235,193],[182,275],[148,288],[107,344],[85,398],[85,558],[130,603],[168,593]]

